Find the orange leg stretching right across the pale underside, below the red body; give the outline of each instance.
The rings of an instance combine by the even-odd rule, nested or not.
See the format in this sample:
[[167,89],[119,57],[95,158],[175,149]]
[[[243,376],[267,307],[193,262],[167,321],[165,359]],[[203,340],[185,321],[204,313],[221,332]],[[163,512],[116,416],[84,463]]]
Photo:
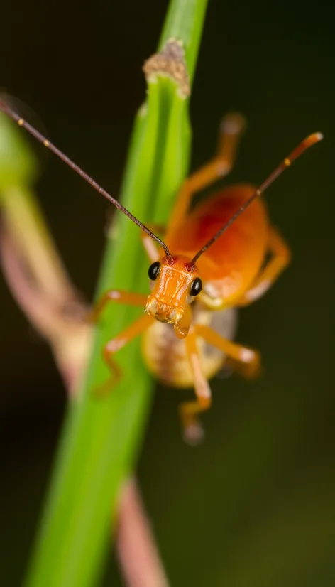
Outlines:
[[201,336],[206,340],[209,345],[213,345],[227,357],[230,357],[237,362],[238,370],[241,370],[244,377],[253,378],[257,377],[260,372],[260,355],[259,352],[251,348],[244,347],[238,343],[232,343],[231,340],[223,338],[221,335],[215,332],[209,326],[202,324],[194,325],[194,331],[198,336]]

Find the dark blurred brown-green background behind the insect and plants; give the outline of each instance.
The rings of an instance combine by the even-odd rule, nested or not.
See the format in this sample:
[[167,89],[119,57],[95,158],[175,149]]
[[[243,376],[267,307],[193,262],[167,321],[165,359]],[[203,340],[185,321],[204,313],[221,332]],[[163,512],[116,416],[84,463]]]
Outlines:
[[[18,0],[1,6],[0,85],[48,135],[119,193],[143,60],[167,1]],[[173,587],[310,587],[335,581],[334,9],[331,3],[209,0],[191,117],[192,168],[219,119],[248,132],[229,182],[259,183],[323,131],[273,185],[270,215],[293,252],[265,298],[241,311],[238,340],[263,354],[256,382],[213,382],[205,443],[187,448],[177,404],[158,389],[138,476]],[[40,202],[77,286],[92,297],[109,208],[38,150]],[[65,410],[50,351],[0,275],[0,583],[23,576]],[[121,585],[115,561],[106,584]]]

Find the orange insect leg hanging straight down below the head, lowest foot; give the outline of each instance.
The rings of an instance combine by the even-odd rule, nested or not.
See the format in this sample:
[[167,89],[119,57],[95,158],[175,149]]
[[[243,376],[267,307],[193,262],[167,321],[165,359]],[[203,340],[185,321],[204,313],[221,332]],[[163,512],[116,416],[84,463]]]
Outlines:
[[180,404],[180,418],[182,420],[185,441],[189,444],[197,444],[204,436],[198,414],[209,409],[212,403],[212,395],[209,383],[202,373],[197,350],[197,335],[194,332],[190,332],[185,338],[185,344],[194,378],[194,390],[197,399],[193,402],[183,402]]

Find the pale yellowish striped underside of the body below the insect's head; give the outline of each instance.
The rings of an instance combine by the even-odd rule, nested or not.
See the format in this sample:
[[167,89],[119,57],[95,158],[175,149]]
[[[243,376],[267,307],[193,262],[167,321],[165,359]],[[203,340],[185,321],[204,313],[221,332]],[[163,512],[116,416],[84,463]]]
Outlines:
[[[209,325],[231,340],[236,330],[236,308],[209,311],[194,303],[194,324]],[[155,321],[141,341],[143,358],[148,370],[156,379],[172,387],[194,387],[185,340],[176,337],[171,324]],[[198,338],[197,345],[204,377],[211,379],[223,367],[225,355]]]

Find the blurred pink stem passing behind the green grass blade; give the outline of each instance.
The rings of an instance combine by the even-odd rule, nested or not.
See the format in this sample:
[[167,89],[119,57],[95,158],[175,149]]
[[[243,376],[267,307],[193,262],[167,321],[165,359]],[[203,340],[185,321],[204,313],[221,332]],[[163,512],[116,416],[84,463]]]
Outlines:
[[[62,301],[45,293],[34,279],[33,266],[29,265],[25,252],[5,222],[0,232],[0,262],[13,298],[40,335],[48,340],[67,390],[74,397],[87,364],[92,338],[92,326],[83,320],[87,308],[72,293],[70,296],[70,292],[75,291],[71,284],[65,287]],[[121,494],[116,538],[128,587],[168,587],[153,532],[133,480]]]

